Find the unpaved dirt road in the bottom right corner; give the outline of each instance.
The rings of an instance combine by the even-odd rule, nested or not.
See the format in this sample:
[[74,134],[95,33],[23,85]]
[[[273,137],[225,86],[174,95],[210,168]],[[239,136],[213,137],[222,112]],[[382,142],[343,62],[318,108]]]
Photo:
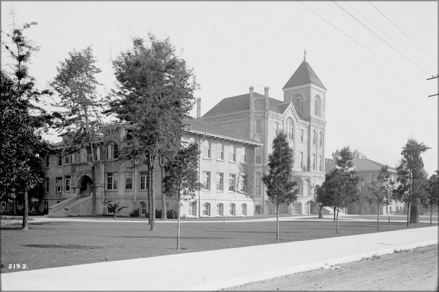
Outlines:
[[438,245],[224,289],[438,291]]

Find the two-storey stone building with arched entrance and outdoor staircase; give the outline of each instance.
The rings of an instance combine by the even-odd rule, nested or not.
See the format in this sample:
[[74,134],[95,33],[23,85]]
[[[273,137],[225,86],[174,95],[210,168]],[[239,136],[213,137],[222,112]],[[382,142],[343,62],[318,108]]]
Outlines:
[[[255,147],[261,146],[248,137],[224,130],[201,120],[186,118],[182,141],[200,142],[199,180],[203,189],[191,202],[183,202],[181,215],[188,217],[252,216],[254,210],[254,171],[244,173],[241,162],[254,169]],[[64,141],[53,145],[55,154],[45,155],[44,194],[40,211],[49,216],[92,214],[92,185],[96,183],[97,214],[107,213],[104,206],[119,202],[128,208],[119,215],[129,215],[139,208],[148,211],[148,170],[146,165],[130,168],[119,160],[120,144],[125,136],[122,123],[106,125],[103,144],[94,150],[96,182],[93,182],[87,150],[67,153]],[[252,160],[253,157],[253,160]],[[253,166],[251,166],[253,165]],[[160,168],[155,166],[155,206],[162,209]],[[166,209],[178,210],[175,200],[166,199]]]

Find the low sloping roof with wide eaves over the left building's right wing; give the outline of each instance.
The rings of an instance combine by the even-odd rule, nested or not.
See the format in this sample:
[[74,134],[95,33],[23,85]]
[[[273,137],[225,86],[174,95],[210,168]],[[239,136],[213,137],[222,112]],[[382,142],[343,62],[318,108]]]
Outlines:
[[249,139],[247,137],[241,136],[234,132],[230,132],[229,130],[225,130],[223,128],[211,125],[209,123],[203,122],[202,120],[195,119],[192,117],[184,118],[183,123],[185,124],[184,129],[187,132],[207,134],[208,136],[212,136],[212,137],[227,138],[237,142],[262,145],[258,141]]

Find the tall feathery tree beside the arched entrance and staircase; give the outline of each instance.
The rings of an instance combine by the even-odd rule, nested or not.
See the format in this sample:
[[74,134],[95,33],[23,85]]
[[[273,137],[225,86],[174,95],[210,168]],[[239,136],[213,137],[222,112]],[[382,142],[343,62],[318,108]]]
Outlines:
[[101,144],[102,101],[97,99],[96,86],[99,83],[95,74],[101,70],[94,63],[91,47],[79,52],[73,50],[69,58],[60,62],[57,67],[58,75],[50,85],[61,97],[61,102],[54,106],[61,108],[55,112],[57,117],[55,127],[65,134],[68,152],[87,149],[87,163],[91,166],[93,180],[92,216],[96,216],[96,161],[94,160],[95,146]]

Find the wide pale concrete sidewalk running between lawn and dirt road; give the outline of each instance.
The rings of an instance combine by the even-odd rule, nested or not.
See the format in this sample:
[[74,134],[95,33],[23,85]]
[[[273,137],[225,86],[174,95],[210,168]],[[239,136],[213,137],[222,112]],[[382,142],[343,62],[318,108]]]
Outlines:
[[4,290],[217,290],[438,243],[438,227],[1,274]]

